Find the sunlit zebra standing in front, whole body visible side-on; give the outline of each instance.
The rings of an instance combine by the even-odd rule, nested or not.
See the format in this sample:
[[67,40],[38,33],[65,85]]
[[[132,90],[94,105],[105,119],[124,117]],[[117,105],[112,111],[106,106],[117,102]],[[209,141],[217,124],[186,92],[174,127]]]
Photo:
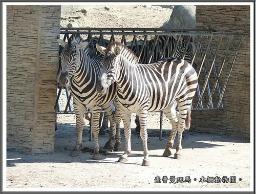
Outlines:
[[[96,89],[105,94],[107,89],[117,83],[116,116],[122,115],[125,134],[125,151],[119,162],[126,162],[131,153],[131,114],[135,112],[140,119],[140,137],[143,141],[144,159],[142,165],[150,165],[147,149],[148,111],[162,110],[172,123],[172,132],[163,156],[170,156],[178,131],[175,158],[181,158],[181,139],[183,131],[190,126],[190,104],[198,84],[195,69],[183,59],[169,57],[154,63],[141,64],[135,54],[120,42],[111,42],[108,48],[96,45],[104,54],[101,73]],[[174,108],[178,102],[179,114]]]

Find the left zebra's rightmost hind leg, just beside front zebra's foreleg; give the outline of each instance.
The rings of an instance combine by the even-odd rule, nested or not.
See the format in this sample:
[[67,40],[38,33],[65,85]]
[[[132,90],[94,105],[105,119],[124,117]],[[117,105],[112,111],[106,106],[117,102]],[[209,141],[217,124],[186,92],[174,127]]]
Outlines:
[[121,135],[120,135],[120,122],[122,120],[122,114],[121,114],[120,106],[118,103],[116,103],[115,107],[116,107],[116,111],[115,111],[115,121],[116,121],[115,151],[119,152],[122,150]]

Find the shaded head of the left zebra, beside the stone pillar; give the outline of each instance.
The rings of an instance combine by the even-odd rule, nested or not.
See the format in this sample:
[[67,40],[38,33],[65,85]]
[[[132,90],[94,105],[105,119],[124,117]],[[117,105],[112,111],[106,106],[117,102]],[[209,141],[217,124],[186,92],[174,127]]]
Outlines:
[[87,41],[83,41],[79,34],[73,34],[68,42],[57,37],[57,41],[63,47],[60,53],[61,74],[59,82],[63,87],[70,84],[70,80],[76,70],[79,69],[79,52],[88,46]]

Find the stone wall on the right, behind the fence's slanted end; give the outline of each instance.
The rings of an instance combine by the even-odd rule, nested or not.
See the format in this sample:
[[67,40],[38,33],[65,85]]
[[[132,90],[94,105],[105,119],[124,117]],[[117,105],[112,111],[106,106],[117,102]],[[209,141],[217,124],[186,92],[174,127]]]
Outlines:
[[[250,33],[249,6],[197,6],[196,28],[217,32]],[[234,37],[236,38],[236,37]],[[238,41],[237,41],[238,42]],[[230,56],[237,44],[231,44]],[[224,50],[220,49],[220,56]],[[231,61],[226,61],[223,76]],[[225,77],[224,77],[225,78]],[[222,81],[225,81],[223,78]],[[221,85],[223,88],[223,84]],[[198,132],[230,134],[250,138],[250,39],[245,36],[223,97],[224,110],[193,111],[191,128]]]

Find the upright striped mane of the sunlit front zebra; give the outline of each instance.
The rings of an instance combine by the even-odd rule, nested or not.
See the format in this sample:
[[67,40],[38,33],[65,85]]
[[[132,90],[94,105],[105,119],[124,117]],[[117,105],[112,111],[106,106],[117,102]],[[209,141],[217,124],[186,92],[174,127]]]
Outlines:
[[[125,54],[126,58],[129,56],[128,57],[128,58],[130,58],[129,61],[131,61],[132,63],[138,63],[138,57],[135,55],[135,53],[119,41],[112,41],[108,45],[108,47],[106,48],[106,51],[105,51],[106,55],[111,55],[113,53],[115,47],[119,47],[120,53]],[[132,56],[132,57],[130,57],[130,56]]]

